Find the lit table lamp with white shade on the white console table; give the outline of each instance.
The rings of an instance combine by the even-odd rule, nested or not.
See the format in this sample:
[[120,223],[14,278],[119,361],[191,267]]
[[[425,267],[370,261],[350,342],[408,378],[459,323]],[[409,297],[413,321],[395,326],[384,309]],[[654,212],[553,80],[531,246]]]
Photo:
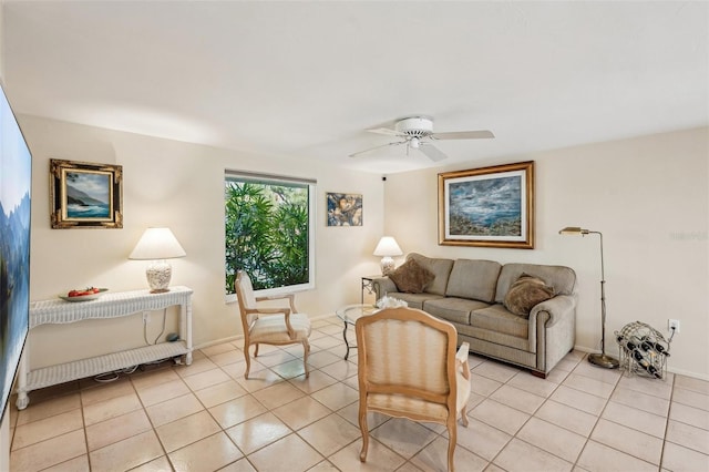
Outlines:
[[169,291],[169,279],[173,268],[165,259],[185,257],[187,254],[182,248],[169,228],[147,228],[129,259],[151,260],[145,270],[151,294]]

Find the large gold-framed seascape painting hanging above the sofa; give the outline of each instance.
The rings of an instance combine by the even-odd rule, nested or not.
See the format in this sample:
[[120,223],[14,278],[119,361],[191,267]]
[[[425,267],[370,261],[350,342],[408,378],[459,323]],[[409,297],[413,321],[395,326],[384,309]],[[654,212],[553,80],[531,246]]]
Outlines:
[[439,244],[534,248],[534,161],[439,174]]

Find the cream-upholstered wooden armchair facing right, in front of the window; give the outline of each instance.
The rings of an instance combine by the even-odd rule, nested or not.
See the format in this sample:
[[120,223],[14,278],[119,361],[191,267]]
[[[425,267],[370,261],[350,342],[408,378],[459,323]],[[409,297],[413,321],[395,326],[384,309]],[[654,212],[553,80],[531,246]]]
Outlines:
[[[258,356],[258,345],[302,345],[302,365],[306,378],[310,376],[308,369],[308,353],[310,353],[310,319],[305,314],[296,310],[295,297],[286,294],[273,297],[255,297],[251,279],[248,274],[239,270],[234,283],[236,296],[239,301],[242,312],[242,326],[244,327],[244,357],[246,358],[246,371],[244,378],[248,379],[248,371],[251,368],[249,348],[256,346],[254,357]],[[258,301],[287,299],[288,307],[259,308]]]

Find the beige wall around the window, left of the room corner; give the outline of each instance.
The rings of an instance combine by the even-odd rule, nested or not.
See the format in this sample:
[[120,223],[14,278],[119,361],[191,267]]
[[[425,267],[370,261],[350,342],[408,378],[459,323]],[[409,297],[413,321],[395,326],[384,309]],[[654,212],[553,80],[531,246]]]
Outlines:
[[[172,260],[172,284],[195,291],[195,345],[239,335],[237,306],[224,297],[225,168],[317,178],[317,288],[297,296],[301,311],[318,317],[359,301],[359,276],[378,270],[378,259],[371,255],[383,227],[383,183],[378,175],[33,116],[20,116],[20,124],[33,155],[32,300],[91,285],[116,291],[146,288],[145,261],[127,260],[127,255],[146,227],[167,226],[187,253]],[[50,158],[122,165],[123,229],[51,229]],[[325,192],[362,194],[364,225],[326,227]],[[148,339],[161,328],[162,314],[153,314]],[[103,353],[109,347],[144,346],[140,315],[39,327],[30,342],[32,367]]]

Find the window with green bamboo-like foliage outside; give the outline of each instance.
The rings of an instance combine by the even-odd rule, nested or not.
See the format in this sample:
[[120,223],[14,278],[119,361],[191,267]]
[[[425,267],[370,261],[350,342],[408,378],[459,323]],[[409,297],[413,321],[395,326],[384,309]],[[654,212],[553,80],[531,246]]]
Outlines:
[[315,287],[315,181],[227,171],[224,177],[227,300],[237,270],[259,295]]

